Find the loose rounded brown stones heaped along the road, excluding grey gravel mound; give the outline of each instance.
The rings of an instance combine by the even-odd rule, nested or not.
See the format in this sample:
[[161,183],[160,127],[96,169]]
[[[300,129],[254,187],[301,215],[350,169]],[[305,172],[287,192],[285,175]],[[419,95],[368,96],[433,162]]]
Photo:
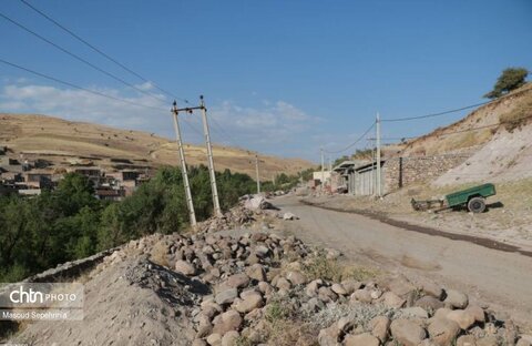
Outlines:
[[[309,277],[310,263],[338,254],[293,236],[196,234],[158,242],[176,273],[208,286],[186,312],[195,346],[267,344],[275,319],[309,326],[319,345],[531,345],[511,320],[433,283]],[[300,345],[309,343],[309,335],[299,337]]]

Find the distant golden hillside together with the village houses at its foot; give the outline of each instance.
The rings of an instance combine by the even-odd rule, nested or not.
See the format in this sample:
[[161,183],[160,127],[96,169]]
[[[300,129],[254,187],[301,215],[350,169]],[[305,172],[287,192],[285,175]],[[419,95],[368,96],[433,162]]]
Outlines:
[[[75,123],[44,115],[0,114],[0,194],[35,195],[53,189],[65,173],[86,176],[100,200],[121,201],[157,169],[176,166],[175,141],[153,133]],[[202,145],[185,145],[190,166],[206,164]],[[255,154],[214,146],[215,167],[256,176]],[[262,180],[296,174],[313,164],[260,155]]]

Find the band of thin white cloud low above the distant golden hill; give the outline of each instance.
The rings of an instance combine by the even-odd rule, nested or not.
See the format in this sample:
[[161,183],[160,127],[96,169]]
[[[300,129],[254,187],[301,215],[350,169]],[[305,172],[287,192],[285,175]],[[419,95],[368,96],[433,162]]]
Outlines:
[[[136,86],[145,91],[153,89],[150,83]],[[133,94],[131,90],[88,89],[156,109],[135,106],[83,90],[11,82],[0,89],[0,112],[40,113],[174,138],[167,99],[167,102],[158,101],[145,94]],[[311,135],[323,121],[286,101],[269,100],[257,100],[254,106],[225,101],[211,105],[208,114],[215,143],[277,155],[294,155],[314,145],[309,144],[314,142]],[[183,113],[180,119],[185,141],[202,142],[200,114]]]

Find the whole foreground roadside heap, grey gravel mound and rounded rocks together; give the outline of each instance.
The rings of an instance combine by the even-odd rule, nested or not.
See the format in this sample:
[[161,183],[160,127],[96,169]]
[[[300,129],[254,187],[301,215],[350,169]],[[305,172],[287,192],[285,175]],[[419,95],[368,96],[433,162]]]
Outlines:
[[464,293],[434,283],[418,286],[401,275],[357,275],[344,271],[334,250],[243,232],[132,241],[89,275],[83,323],[37,323],[21,338],[35,345],[532,343],[510,319],[470,304]]

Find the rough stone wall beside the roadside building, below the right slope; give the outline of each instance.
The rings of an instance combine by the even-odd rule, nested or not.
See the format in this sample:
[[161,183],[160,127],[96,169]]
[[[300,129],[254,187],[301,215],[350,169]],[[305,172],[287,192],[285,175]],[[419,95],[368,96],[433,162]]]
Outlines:
[[392,192],[412,183],[434,180],[462,164],[473,151],[434,156],[407,156],[387,159],[383,165],[385,191]]

